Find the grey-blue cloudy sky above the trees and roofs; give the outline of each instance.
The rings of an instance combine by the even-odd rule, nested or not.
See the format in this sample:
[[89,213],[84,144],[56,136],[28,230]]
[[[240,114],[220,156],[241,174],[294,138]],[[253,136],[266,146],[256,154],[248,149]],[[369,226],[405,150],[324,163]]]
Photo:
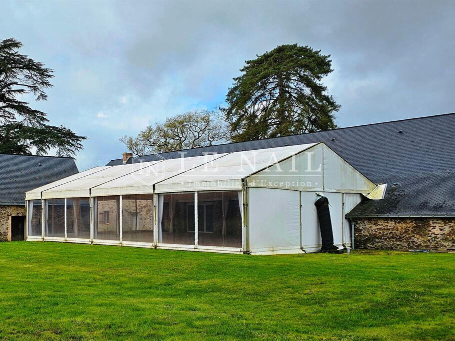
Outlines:
[[79,170],[120,157],[125,134],[223,103],[244,60],[280,44],[331,54],[340,127],[455,111],[455,1],[13,1],[0,12],[0,39],[54,69],[36,108],[89,137]]

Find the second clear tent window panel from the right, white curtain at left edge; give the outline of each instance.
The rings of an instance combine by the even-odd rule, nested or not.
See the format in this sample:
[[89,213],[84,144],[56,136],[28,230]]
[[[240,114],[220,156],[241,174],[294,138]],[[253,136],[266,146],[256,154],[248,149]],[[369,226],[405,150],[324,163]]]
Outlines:
[[164,194],[158,200],[158,243],[194,245],[194,193]]

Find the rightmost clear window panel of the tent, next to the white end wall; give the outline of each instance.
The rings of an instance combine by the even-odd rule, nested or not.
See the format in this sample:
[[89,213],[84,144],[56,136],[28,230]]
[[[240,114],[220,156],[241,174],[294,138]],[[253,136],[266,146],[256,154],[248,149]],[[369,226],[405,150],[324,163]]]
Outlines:
[[241,248],[240,195],[237,191],[197,193],[198,245]]

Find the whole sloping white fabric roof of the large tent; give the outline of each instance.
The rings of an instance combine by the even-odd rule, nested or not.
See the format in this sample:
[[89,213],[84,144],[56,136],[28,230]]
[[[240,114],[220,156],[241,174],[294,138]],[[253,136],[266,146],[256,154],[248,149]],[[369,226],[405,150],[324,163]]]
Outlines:
[[[27,193],[27,198],[74,198],[212,189],[238,190],[241,189],[242,179],[316,145],[323,144],[309,143],[121,166],[95,167],[30,191]],[[362,178],[368,181],[363,176]]]

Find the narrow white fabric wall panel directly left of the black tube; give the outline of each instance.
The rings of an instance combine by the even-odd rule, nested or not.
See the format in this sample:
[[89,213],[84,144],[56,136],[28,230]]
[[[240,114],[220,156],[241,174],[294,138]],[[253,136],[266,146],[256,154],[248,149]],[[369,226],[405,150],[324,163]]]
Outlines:
[[[321,247],[319,221],[314,202],[320,198],[314,192],[300,192],[302,248],[306,252],[317,251]],[[321,193],[322,194],[322,193]]]

